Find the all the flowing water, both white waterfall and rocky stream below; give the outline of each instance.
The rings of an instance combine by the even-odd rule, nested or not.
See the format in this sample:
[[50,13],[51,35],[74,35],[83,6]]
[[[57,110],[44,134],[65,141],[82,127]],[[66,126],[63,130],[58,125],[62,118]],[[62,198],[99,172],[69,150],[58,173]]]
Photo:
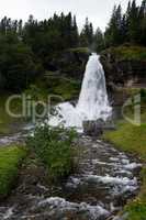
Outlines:
[[[58,105],[58,114],[49,123],[75,127],[111,114],[105,78],[99,56],[92,54],[87,64],[79,101]],[[0,139],[0,145],[22,141],[22,133]],[[131,156],[93,138],[79,138],[78,168],[59,185],[46,185],[41,167],[20,174],[18,187],[1,204],[0,220],[105,220],[113,219],[138,190],[141,164]]]

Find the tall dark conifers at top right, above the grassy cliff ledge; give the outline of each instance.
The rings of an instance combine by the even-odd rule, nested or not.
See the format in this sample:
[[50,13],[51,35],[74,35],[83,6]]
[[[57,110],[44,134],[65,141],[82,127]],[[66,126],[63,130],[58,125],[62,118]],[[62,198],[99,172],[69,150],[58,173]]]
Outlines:
[[106,47],[124,43],[146,46],[146,0],[141,6],[135,0],[130,1],[125,13],[122,13],[121,4],[114,7],[104,43]]

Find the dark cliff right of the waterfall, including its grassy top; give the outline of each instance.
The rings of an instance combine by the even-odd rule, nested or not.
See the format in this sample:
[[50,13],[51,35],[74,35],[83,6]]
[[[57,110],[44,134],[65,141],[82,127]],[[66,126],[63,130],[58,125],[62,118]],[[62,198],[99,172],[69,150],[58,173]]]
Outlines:
[[[136,47],[137,48],[137,47]],[[106,50],[101,54],[101,63],[106,76],[108,84],[116,86],[146,85],[146,48],[143,56],[139,47],[119,47],[116,50]],[[124,53],[122,54],[122,51]],[[117,53],[119,52],[119,53]]]

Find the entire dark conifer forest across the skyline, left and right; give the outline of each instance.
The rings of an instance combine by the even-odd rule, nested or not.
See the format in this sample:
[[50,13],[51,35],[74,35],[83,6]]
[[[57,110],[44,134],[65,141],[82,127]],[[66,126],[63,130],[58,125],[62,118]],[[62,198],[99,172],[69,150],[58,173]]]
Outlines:
[[[139,34],[141,33],[141,34]],[[0,89],[22,91],[44,74],[59,54],[67,48],[88,47],[101,51],[119,45],[146,46],[146,1],[141,6],[130,1],[125,12],[114,6],[104,32],[86,19],[79,30],[76,16],[54,14],[37,21],[30,15],[26,22],[4,16],[0,21]]]

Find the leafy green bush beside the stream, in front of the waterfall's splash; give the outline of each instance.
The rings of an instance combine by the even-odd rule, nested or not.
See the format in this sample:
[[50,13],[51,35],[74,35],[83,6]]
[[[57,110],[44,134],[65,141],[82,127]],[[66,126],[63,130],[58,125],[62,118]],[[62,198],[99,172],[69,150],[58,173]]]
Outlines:
[[29,148],[44,163],[53,180],[59,180],[72,170],[75,166],[72,144],[76,135],[74,130],[50,128],[45,124],[36,128],[34,136],[27,139]]

